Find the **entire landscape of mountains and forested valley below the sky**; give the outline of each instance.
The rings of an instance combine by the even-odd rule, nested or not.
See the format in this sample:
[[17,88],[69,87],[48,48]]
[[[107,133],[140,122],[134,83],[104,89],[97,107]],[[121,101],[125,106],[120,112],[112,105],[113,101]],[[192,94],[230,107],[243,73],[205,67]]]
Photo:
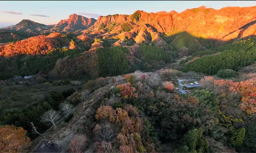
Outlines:
[[[72,153],[256,152],[255,12],[71,14],[0,28],[0,152],[48,141]],[[11,130],[22,133],[15,147]]]

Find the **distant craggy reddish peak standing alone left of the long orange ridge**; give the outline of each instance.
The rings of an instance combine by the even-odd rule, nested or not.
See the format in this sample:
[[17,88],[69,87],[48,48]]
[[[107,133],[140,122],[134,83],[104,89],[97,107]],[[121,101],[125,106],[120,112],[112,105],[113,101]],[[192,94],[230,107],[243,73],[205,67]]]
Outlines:
[[87,18],[77,14],[71,14],[67,20],[61,20],[51,30],[56,31],[76,31],[84,30],[96,22],[94,18]]

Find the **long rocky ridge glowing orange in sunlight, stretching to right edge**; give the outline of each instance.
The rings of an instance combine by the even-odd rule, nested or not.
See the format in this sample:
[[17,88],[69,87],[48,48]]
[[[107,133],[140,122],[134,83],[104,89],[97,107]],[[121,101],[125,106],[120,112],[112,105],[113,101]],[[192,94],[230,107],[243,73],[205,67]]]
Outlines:
[[150,34],[152,37],[152,35],[160,33],[173,35],[186,31],[195,37],[227,41],[255,34],[255,12],[256,6],[225,7],[219,10],[201,6],[186,9],[181,13],[176,11],[157,13],[136,11],[131,15],[101,16],[84,33],[120,34],[126,31],[122,28],[122,24],[128,23],[129,29],[126,32],[141,35],[141,37],[146,37],[148,32],[158,33]]

